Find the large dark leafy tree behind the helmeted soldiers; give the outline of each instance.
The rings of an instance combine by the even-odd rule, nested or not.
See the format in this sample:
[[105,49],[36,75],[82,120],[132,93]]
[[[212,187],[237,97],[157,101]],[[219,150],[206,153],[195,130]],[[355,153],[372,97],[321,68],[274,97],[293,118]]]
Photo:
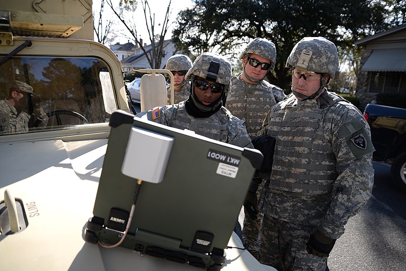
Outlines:
[[[275,43],[277,64],[269,82],[290,89],[285,68],[293,46],[303,37],[325,37],[347,57],[357,57],[354,42],[384,26],[385,12],[375,0],[195,0],[179,13],[173,36],[178,49],[221,54],[260,37]],[[381,12],[381,13],[379,13]],[[342,56],[344,59],[344,56]]]

